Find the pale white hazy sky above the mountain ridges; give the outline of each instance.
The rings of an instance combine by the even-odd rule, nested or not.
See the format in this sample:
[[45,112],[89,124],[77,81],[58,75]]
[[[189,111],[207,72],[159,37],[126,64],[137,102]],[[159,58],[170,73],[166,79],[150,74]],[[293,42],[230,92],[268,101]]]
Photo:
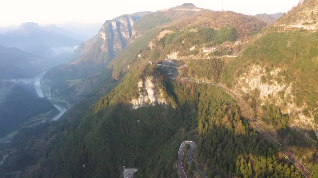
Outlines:
[[[299,0],[224,0],[224,10],[247,15],[287,12]],[[156,11],[183,3],[221,10],[222,0],[3,0],[0,6],[0,26],[38,22],[104,22],[122,14]]]

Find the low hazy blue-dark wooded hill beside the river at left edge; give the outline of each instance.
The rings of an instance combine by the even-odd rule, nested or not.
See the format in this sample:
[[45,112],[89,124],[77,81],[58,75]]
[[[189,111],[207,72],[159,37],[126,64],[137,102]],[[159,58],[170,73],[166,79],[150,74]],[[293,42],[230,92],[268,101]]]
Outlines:
[[50,101],[39,98],[34,88],[15,86],[0,103],[0,137],[15,130],[30,118],[58,110]]

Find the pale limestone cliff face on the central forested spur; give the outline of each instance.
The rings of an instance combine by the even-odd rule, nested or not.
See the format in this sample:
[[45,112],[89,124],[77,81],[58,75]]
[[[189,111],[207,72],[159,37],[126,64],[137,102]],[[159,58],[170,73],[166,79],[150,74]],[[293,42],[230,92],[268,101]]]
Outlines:
[[167,104],[163,90],[158,87],[158,81],[154,79],[153,76],[149,76],[146,79],[140,79],[138,87],[138,98],[131,100],[133,109],[149,105]]

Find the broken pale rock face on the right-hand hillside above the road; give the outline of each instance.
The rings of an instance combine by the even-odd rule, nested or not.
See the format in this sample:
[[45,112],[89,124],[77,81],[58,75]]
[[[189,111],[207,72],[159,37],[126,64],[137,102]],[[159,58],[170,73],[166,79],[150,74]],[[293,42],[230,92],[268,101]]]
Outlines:
[[[283,71],[281,68],[275,68],[271,72],[266,72],[264,67],[253,66],[250,70],[238,79],[232,88],[236,94],[252,93],[257,90],[259,99],[262,100],[261,105],[271,103],[280,107],[284,114],[288,114],[293,119],[290,126],[296,128],[311,128],[315,130],[318,137],[318,126],[314,122],[312,111],[309,111],[311,117],[304,115],[303,111],[306,105],[297,107],[295,97],[293,95],[293,83],[287,83],[284,77],[280,75]],[[263,78],[263,79],[262,79]],[[277,82],[274,78],[281,79]]]

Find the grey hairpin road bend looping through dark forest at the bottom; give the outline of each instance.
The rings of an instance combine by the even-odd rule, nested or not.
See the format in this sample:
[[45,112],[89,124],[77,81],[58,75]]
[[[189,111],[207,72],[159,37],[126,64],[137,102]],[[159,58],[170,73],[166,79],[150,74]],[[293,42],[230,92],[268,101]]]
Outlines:
[[[185,174],[183,166],[182,166],[183,153],[184,153],[184,149],[185,149],[186,144],[190,144],[190,149],[189,149],[189,151],[187,153],[187,155],[188,155],[188,160],[187,161],[188,161],[189,166],[191,165],[191,163],[193,161],[192,155],[193,155],[194,150],[197,147],[197,145],[194,142],[192,142],[192,141],[185,141],[185,142],[183,142],[180,145],[180,148],[179,148],[179,151],[178,151],[178,162],[177,162],[177,165],[178,165],[178,172],[179,172],[179,175],[180,175],[181,178],[187,178],[187,175]],[[207,178],[207,176],[197,167],[197,165],[195,165],[195,167],[196,167],[196,172],[199,173],[199,175],[201,177]]]

